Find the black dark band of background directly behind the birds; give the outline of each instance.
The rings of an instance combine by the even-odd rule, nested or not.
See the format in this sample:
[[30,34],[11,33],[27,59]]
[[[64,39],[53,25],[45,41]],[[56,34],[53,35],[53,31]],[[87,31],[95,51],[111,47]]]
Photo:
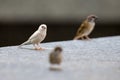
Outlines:
[[[0,22],[0,46],[19,45],[37,30],[41,23],[48,26],[47,37],[43,42],[71,40],[81,21],[28,21]],[[91,38],[120,35],[119,23],[96,23]]]

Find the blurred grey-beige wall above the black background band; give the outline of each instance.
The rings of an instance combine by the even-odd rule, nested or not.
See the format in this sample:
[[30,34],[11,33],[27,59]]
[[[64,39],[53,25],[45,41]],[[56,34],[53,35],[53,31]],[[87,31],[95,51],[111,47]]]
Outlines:
[[120,0],[0,0],[0,20],[120,18]]

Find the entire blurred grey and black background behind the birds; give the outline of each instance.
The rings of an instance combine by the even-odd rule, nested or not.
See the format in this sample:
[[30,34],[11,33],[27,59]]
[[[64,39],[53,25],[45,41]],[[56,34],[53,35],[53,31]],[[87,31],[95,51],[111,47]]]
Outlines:
[[0,46],[21,44],[42,23],[43,42],[71,40],[90,14],[99,17],[91,38],[120,35],[120,0],[0,0]]

